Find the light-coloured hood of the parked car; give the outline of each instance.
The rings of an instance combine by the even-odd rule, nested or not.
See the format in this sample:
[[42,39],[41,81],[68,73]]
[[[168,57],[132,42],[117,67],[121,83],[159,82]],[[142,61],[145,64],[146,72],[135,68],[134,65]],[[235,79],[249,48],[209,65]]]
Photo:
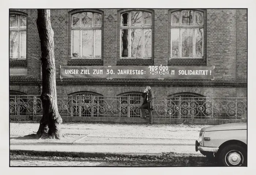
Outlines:
[[222,130],[235,130],[235,129],[247,129],[247,123],[231,123],[231,124],[216,125],[216,126],[202,128],[201,131],[222,131]]

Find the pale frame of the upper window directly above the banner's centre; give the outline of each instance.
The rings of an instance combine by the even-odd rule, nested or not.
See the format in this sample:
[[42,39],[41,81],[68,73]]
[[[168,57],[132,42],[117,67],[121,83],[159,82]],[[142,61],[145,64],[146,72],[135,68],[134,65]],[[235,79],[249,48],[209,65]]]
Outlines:
[[[142,12],[142,25],[141,26],[131,26],[131,12]],[[144,25],[144,12],[151,14],[151,23],[150,25]],[[128,13],[128,26],[122,26],[122,15],[124,13]],[[128,11],[123,11],[119,13],[120,20],[118,21],[119,28],[119,58],[120,59],[153,59],[153,47],[154,47],[154,38],[153,38],[153,32],[154,32],[154,13],[151,11],[145,11],[141,9],[131,9]],[[128,29],[128,57],[122,57],[122,30]],[[142,29],[142,57],[131,57],[131,30],[132,29]],[[144,44],[144,29],[151,29],[151,57],[144,57],[145,55],[145,44]]]

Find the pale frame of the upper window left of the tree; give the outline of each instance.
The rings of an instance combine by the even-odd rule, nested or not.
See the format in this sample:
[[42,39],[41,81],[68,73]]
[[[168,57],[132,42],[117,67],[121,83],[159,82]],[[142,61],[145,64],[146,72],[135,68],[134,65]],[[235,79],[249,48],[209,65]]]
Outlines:
[[[10,16],[11,15],[18,15],[18,27],[10,27]],[[21,27],[20,26],[20,16],[24,16],[26,18],[26,26]],[[11,58],[11,47],[10,47],[10,32],[11,31],[17,31],[18,32],[18,57],[17,58]],[[20,41],[20,31],[25,31],[26,32],[26,44],[25,44],[25,58],[20,57],[20,47],[22,45],[22,42]],[[19,59],[19,60],[26,60],[27,59],[27,15],[26,13],[19,12],[19,11],[10,11],[9,13],[9,59]]]

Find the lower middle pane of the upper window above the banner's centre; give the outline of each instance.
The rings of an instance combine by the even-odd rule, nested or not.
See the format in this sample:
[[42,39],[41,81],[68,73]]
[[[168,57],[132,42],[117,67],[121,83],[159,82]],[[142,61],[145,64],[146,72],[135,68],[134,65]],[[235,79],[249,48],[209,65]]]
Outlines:
[[131,57],[141,58],[142,52],[142,30],[132,29],[131,30]]

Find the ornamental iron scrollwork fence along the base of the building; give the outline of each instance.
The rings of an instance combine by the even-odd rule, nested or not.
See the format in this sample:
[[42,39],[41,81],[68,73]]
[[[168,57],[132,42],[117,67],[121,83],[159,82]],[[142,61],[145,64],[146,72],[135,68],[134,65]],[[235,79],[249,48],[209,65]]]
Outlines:
[[[57,96],[61,116],[72,117],[140,117],[141,93],[126,93],[119,96],[101,96],[80,92],[70,96]],[[245,119],[246,98],[208,98],[198,94],[174,94],[174,97],[154,98],[154,118],[184,119]],[[10,115],[40,115],[40,96],[10,93]]]

